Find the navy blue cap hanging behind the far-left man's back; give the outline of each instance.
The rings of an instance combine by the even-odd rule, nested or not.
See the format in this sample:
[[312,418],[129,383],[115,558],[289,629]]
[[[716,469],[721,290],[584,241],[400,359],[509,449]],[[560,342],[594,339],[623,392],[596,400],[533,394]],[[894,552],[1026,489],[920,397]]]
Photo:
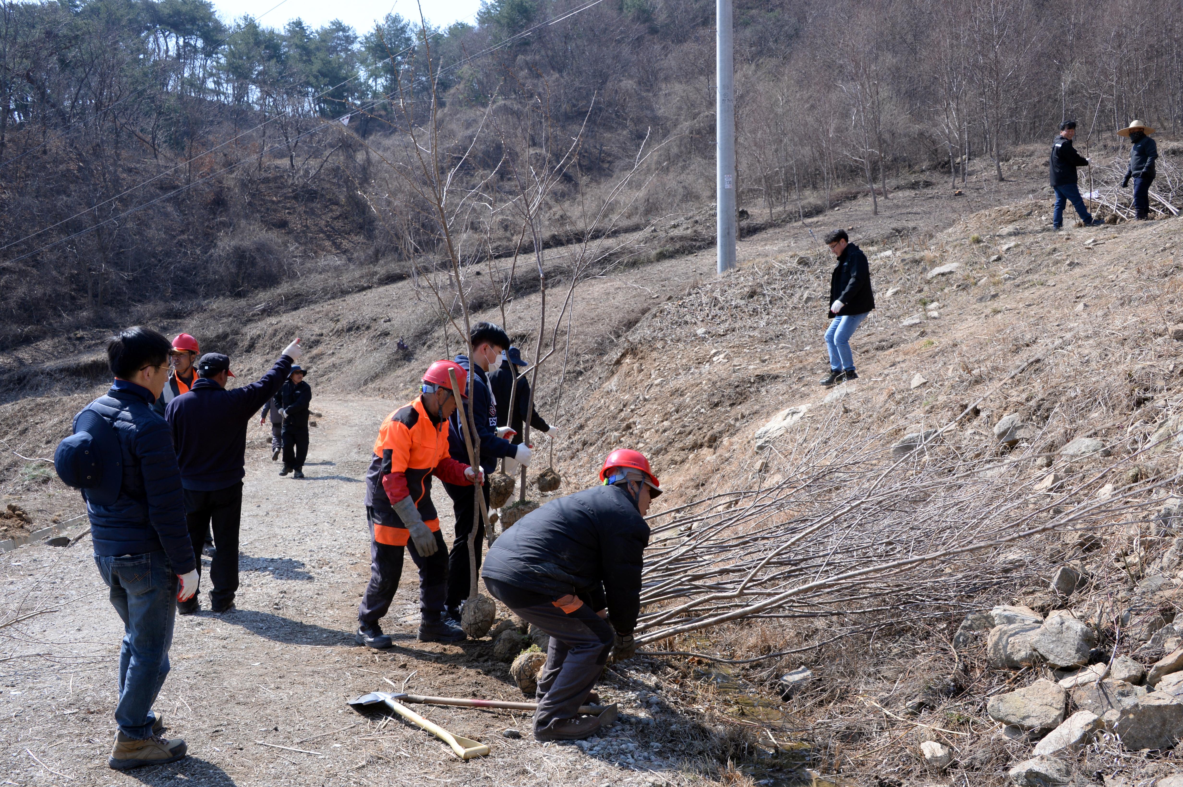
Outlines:
[[82,489],[86,502],[114,505],[123,487],[123,448],[118,435],[90,408],[75,416],[73,430],[53,453],[58,477],[67,487]]

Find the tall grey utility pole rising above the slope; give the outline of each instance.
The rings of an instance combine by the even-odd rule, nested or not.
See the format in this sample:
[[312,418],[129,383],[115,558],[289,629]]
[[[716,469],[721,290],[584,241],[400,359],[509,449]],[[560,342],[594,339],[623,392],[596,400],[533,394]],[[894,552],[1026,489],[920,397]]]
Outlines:
[[717,269],[736,266],[736,102],[731,0],[715,0],[715,206]]

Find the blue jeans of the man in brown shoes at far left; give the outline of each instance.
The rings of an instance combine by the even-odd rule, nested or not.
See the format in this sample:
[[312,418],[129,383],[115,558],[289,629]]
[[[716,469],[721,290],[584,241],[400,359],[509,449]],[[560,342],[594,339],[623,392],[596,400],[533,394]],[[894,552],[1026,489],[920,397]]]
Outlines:
[[123,619],[119,702],[115,723],[128,737],[151,737],[151,704],[168,675],[168,649],[176,620],[176,574],[163,551],[118,558],[95,555],[111,588],[111,606]]

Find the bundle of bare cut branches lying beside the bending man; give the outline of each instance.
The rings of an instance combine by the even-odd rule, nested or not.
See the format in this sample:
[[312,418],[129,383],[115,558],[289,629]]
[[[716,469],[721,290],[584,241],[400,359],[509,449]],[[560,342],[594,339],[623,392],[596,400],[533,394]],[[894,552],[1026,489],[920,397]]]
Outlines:
[[1136,480],[1127,470],[1138,454],[1048,477],[1032,449],[983,456],[939,431],[893,453],[881,438],[841,437],[839,418],[835,410],[775,447],[786,479],[775,486],[661,515],[638,642],[774,617],[810,623],[812,640],[796,649],[808,650],[948,619],[1048,575],[1059,549],[1016,542],[1145,520],[1153,489],[1170,482]]

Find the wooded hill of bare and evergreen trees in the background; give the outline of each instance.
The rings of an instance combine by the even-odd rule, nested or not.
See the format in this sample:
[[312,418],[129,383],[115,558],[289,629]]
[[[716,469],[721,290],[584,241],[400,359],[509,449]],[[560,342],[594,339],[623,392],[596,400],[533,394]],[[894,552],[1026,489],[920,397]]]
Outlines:
[[[554,163],[571,141],[548,243],[600,227],[588,204],[640,154],[618,228],[713,212],[713,14],[490,0],[476,25],[271,30],[203,0],[5,2],[0,349],[414,275],[441,236],[397,173],[425,125],[440,171],[481,197],[459,217],[466,265],[529,246],[505,162]],[[891,199],[913,173],[956,188],[968,160],[1001,180],[1009,150],[1066,118],[1086,150],[1133,117],[1183,121],[1179,4],[738,0],[735,19],[742,216]]]

